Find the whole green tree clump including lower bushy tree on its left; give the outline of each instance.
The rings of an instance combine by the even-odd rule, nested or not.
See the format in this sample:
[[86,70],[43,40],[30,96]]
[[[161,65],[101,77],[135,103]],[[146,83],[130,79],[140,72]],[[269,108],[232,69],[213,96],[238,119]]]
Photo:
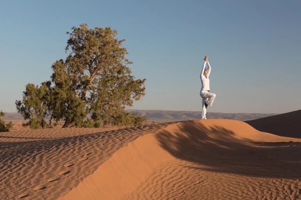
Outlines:
[[18,111],[31,126],[52,126],[53,120],[64,120],[63,127],[141,124],[145,117],[125,111],[144,95],[145,79],[131,75],[124,39],[110,27],[87,24],[67,34],[66,59],[52,64],[51,80],[26,85],[23,100],[16,101]]

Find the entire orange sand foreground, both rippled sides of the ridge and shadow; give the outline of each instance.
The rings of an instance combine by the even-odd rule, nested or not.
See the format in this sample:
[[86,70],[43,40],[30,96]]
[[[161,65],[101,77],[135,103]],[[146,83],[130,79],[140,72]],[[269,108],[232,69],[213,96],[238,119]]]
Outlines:
[[4,199],[301,199],[301,139],[245,122],[63,130],[0,134]]

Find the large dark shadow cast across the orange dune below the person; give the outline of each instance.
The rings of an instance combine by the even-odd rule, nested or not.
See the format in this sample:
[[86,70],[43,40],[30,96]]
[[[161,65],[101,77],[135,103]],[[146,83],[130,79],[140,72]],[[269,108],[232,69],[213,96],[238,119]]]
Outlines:
[[254,142],[223,127],[185,121],[157,134],[160,145],[200,169],[239,175],[301,178],[301,142]]

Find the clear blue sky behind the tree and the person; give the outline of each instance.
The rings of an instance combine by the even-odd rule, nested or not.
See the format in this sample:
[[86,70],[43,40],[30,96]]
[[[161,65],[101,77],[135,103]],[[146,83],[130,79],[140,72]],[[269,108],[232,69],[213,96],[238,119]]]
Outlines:
[[202,57],[209,57],[208,111],[301,108],[300,0],[12,0],[0,6],[0,109],[16,111],[29,82],[49,79],[65,58],[66,31],[111,26],[132,73],[146,78],[137,109],[200,110]]

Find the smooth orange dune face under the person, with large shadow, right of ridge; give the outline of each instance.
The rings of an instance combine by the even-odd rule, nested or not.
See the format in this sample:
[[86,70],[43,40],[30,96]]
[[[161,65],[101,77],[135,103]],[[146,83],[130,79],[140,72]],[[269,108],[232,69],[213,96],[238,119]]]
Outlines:
[[301,199],[301,139],[227,119],[138,137],[60,199]]

